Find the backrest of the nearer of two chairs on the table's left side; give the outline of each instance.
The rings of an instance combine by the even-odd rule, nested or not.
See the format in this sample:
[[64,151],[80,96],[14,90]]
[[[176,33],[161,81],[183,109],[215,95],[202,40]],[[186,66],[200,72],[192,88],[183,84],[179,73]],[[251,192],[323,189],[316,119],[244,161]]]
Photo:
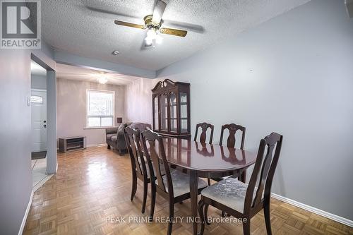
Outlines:
[[[157,178],[157,187],[165,193],[169,193],[170,195],[174,196],[172,176],[170,174],[167,157],[165,155],[162,135],[151,130],[143,131],[142,142],[145,156],[148,162],[148,167],[150,167],[150,179]],[[160,160],[162,160],[162,162],[160,162]],[[163,165],[165,175],[167,176],[167,186],[164,185],[161,164]],[[154,182],[155,181],[152,181],[151,183]]]

